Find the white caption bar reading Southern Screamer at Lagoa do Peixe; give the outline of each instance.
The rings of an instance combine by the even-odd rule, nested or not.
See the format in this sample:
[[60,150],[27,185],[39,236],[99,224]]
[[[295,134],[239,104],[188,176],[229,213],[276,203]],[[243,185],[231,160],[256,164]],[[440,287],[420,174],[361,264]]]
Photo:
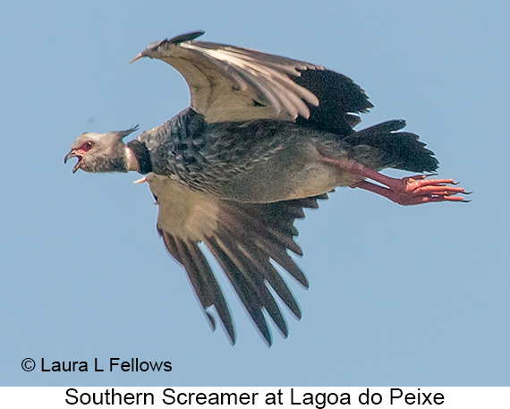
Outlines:
[[0,407],[510,408],[510,388],[0,388]]

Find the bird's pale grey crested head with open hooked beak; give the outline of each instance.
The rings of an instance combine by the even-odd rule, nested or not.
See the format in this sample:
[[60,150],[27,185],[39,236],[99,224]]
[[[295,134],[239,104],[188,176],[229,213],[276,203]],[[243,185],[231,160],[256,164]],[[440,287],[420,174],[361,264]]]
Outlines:
[[64,163],[70,158],[78,158],[72,173],[78,169],[92,173],[127,172],[129,164],[123,138],[137,129],[138,125],[126,131],[81,133],[65,155]]

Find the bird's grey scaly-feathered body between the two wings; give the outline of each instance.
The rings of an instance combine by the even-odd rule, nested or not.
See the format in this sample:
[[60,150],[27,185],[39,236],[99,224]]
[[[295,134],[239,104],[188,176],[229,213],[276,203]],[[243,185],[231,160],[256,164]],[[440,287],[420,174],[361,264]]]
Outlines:
[[318,160],[328,145],[345,156],[342,141],[282,121],[206,124],[187,110],[138,140],[149,149],[154,173],[223,200],[300,199],[355,182]]

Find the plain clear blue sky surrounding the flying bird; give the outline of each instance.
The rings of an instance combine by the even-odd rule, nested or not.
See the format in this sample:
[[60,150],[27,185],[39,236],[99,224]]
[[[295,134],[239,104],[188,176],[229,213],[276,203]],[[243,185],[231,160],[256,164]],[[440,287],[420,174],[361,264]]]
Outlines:
[[[510,383],[507,2],[4,2],[0,6],[0,385],[469,386]],[[139,176],[72,175],[85,131],[148,129],[183,78],[128,62],[190,30],[323,64],[407,120],[469,204],[403,208],[340,188],[297,226],[310,279],[268,348],[222,278],[238,333],[212,333],[166,254]],[[389,175],[404,173],[389,172]],[[170,361],[173,371],[32,372],[45,362]]]

